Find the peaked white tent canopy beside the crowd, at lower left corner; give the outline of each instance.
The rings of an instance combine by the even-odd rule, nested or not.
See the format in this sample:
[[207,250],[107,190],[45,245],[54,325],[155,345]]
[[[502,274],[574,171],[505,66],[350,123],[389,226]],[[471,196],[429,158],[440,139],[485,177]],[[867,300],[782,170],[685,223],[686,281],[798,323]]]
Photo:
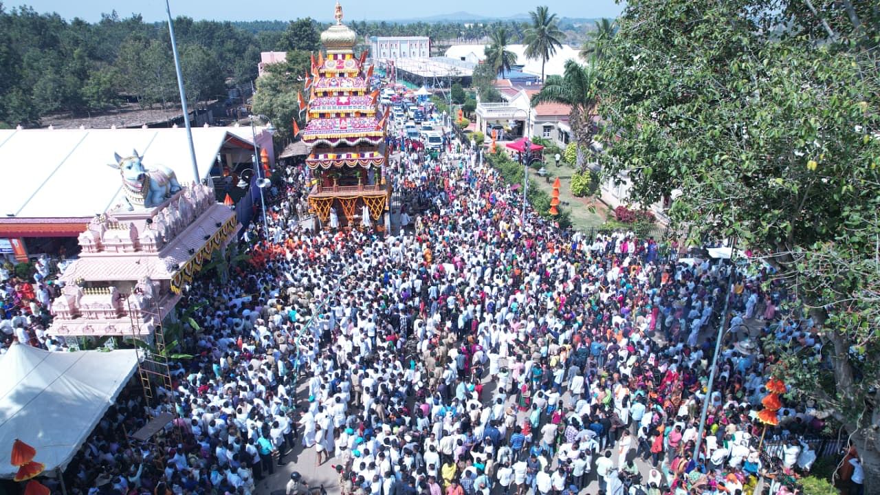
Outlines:
[[14,344],[0,356],[0,477],[14,477],[12,443],[64,469],[137,367],[136,351],[49,352]]

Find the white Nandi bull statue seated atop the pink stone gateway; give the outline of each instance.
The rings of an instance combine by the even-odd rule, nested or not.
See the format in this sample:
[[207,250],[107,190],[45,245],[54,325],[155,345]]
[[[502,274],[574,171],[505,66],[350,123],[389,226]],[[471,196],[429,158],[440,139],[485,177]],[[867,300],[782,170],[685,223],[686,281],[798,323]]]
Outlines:
[[162,165],[144,168],[143,157],[137,154],[137,150],[125,158],[114,153],[114,158],[116,163],[109,166],[118,169],[122,176],[122,190],[125,191],[128,210],[152,208],[180,191],[180,184],[172,169]]

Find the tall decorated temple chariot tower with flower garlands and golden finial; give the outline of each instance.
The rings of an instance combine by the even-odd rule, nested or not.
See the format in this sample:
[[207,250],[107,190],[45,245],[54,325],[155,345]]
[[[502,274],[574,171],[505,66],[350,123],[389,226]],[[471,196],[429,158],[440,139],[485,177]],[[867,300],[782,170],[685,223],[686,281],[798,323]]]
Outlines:
[[307,83],[309,100],[303,141],[312,144],[305,160],[316,179],[308,196],[326,226],[384,225],[389,188],[385,180],[384,116],[378,114],[378,89],[370,92],[372,67],[366,53],[355,57],[356,33],[342,24],[321,33],[326,58],[319,52]]

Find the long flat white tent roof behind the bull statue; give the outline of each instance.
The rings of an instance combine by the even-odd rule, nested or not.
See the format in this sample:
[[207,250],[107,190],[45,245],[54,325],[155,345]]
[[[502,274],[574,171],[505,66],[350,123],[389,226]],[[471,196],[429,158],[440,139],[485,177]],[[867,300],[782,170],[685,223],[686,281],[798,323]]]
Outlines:
[[[230,140],[253,147],[265,128],[194,128],[199,181]],[[91,218],[124,199],[114,152],[136,150],[144,166],[168,166],[180,184],[196,181],[186,129],[0,129],[0,216]],[[242,150],[244,156],[252,151]],[[270,153],[271,154],[271,153]]]

